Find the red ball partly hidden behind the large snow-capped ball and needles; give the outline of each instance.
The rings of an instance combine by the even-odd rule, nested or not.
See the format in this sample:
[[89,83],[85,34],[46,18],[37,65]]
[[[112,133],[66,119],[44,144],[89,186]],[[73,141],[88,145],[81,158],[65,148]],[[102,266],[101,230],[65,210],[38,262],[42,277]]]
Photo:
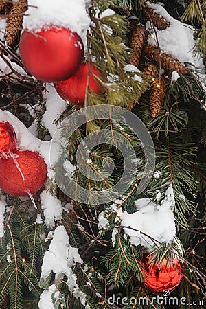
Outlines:
[[[87,89],[87,78],[89,72],[88,63],[84,63],[80,66],[78,71],[71,76],[68,80],[63,82],[58,82],[54,84],[56,92],[63,100],[68,100],[71,104],[76,104],[80,107],[84,105],[85,92]],[[90,64],[90,72],[89,73],[89,88],[95,93],[100,94],[102,91],[98,87],[98,84],[93,78],[92,73],[96,76],[102,76],[100,71],[95,68],[95,66]]]

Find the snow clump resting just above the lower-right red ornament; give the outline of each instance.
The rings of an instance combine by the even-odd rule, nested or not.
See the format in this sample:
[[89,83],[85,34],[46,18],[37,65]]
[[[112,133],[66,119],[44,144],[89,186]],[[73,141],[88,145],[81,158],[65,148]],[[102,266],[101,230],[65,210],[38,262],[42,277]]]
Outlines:
[[[161,199],[159,193],[156,201]],[[116,201],[121,205],[121,200]],[[115,228],[112,233],[112,242],[115,244],[115,236],[120,227],[124,229],[124,237],[129,238],[131,244],[150,249],[154,245],[159,246],[162,243],[171,243],[176,236],[176,226],[174,217],[174,191],[172,185],[165,191],[165,198],[161,199],[159,204],[154,203],[150,198],[139,198],[135,201],[137,211],[128,214],[122,207],[116,204],[111,205],[110,211],[116,213]],[[102,231],[111,227],[108,221],[108,209],[102,211],[98,218],[98,227]],[[112,225],[113,225],[112,223]]]

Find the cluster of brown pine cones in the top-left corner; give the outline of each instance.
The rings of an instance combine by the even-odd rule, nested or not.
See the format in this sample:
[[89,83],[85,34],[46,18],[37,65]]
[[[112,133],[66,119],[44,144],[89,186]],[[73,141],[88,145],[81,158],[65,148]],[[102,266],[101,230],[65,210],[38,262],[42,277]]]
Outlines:
[[5,42],[12,46],[22,29],[23,14],[27,10],[27,0],[0,0],[0,13],[5,15]]

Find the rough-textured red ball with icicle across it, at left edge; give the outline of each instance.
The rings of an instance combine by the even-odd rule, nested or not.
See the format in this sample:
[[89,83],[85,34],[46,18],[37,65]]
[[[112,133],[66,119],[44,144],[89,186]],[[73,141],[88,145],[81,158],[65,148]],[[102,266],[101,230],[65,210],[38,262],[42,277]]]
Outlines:
[[[13,151],[16,161],[24,176],[16,167],[14,159],[0,159],[0,188],[12,196],[27,196],[27,191],[31,194],[38,191],[45,183],[47,177],[47,165],[43,157],[38,152]],[[18,156],[18,157],[17,157]]]

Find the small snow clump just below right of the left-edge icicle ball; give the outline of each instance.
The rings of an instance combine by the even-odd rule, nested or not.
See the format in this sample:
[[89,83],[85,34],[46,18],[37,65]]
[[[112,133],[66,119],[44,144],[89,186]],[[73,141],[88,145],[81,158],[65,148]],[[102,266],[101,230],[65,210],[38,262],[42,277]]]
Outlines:
[[56,198],[56,195],[50,195],[49,192],[44,190],[40,194],[41,198],[41,209],[45,216],[45,225],[47,227],[54,227],[55,221],[62,219],[62,205],[60,200]]

